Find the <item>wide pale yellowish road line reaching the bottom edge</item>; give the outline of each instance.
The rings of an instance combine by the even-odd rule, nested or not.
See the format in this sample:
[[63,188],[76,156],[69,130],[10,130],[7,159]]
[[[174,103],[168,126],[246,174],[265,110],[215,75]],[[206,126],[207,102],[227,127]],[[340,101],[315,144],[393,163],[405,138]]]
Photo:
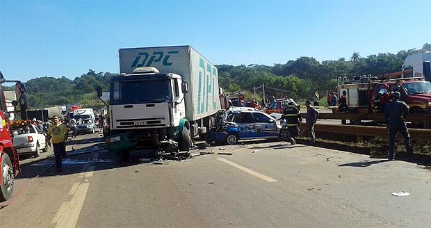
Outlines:
[[83,183],[79,185],[78,190],[76,190],[75,195],[70,200],[70,204],[67,206],[67,210],[65,211],[64,215],[60,216],[60,219],[56,222],[56,227],[73,228],[76,226],[76,222],[78,222],[79,213],[81,213],[89,186],[90,183]]

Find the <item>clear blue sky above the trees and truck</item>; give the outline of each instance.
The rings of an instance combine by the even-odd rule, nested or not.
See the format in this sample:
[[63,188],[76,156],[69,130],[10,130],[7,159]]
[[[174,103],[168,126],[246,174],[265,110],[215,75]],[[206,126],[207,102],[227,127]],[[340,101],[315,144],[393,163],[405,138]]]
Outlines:
[[362,57],[431,43],[429,0],[0,0],[6,79],[119,72],[125,47],[190,44],[211,63]]

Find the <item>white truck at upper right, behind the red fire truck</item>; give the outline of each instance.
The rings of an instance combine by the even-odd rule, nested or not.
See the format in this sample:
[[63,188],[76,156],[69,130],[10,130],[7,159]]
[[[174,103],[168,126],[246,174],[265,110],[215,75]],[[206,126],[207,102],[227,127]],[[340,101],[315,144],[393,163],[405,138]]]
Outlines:
[[402,64],[403,78],[422,77],[431,81],[431,51],[425,53],[411,54],[407,56]]

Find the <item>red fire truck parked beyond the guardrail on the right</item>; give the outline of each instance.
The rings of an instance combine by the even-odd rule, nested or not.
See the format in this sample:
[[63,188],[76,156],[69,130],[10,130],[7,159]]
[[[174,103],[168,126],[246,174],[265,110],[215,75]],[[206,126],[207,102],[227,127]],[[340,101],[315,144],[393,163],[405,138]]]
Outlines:
[[339,78],[339,95],[347,92],[346,100],[350,111],[357,113],[378,113],[380,91],[387,84],[389,92],[398,91],[401,100],[410,107],[410,113],[431,113],[431,83],[423,77],[381,79],[361,76],[353,81]]

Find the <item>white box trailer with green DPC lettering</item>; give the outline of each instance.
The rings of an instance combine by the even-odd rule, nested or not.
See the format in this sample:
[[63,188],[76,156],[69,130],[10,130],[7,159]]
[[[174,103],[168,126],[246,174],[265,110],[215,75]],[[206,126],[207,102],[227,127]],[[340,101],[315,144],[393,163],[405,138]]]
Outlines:
[[186,118],[202,120],[221,109],[218,70],[190,46],[142,47],[119,50],[120,73],[138,67],[156,67],[161,73],[179,74],[188,83]]

